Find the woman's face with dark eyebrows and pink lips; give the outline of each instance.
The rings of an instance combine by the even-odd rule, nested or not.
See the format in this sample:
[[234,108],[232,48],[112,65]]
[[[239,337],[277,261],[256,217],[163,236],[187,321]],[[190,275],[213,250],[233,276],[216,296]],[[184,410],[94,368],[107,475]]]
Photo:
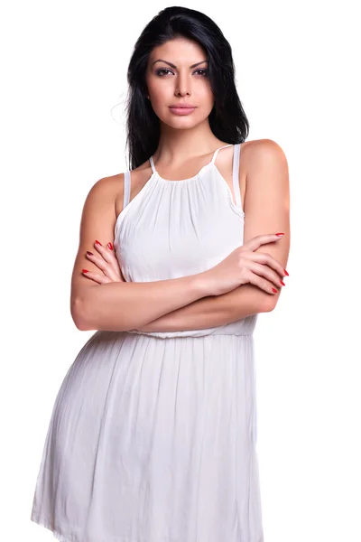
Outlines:
[[176,38],[154,47],[145,79],[154,113],[168,126],[190,128],[213,108],[207,54],[197,42]]

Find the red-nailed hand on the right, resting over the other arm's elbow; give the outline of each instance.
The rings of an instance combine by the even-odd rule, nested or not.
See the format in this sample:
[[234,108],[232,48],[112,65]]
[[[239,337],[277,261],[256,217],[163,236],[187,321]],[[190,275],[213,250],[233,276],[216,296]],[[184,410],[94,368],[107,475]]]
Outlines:
[[272,243],[282,237],[274,233],[257,235],[233,250],[217,266],[204,271],[209,295],[227,294],[247,283],[274,295],[274,285],[280,287],[280,277],[285,276],[284,269],[270,254],[254,251],[261,245]]

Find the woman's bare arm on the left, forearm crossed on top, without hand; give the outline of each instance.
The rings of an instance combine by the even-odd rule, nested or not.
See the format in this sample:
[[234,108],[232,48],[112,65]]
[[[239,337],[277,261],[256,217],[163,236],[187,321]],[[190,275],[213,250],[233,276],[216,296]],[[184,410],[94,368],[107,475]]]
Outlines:
[[99,273],[86,257],[95,240],[114,242],[116,194],[124,193],[124,174],[97,181],[84,203],[79,250],[71,277],[70,312],[77,328],[122,332],[141,328],[162,315],[210,295],[203,273],[154,282],[112,282],[99,285],[82,269]]

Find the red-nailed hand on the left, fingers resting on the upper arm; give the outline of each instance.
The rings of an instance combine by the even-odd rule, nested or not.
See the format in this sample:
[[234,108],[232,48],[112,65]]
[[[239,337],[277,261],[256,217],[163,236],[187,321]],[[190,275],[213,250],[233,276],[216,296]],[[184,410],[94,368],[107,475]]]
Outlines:
[[86,256],[88,257],[88,260],[93,262],[93,264],[95,264],[103,273],[102,275],[99,275],[92,271],[86,272],[86,270],[83,269],[83,275],[94,280],[99,285],[106,285],[106,283],[109,282],[125,282],[112,243],[109,242],[106,247],[103,247],[103,245],[96,240],[94,248],[97,248],[98,254],[92,254],[87,251]]

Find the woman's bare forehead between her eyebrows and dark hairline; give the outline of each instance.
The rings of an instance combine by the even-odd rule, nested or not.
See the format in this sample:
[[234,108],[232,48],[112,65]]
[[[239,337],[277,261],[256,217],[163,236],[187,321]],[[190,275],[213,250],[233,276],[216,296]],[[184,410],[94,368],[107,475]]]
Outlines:
[[206,60],[207,55],[198,42],[178,37],[153,48],[150,61],[153,62],[158,59],[171,61],[178,66],[178,63],[182,62]]

